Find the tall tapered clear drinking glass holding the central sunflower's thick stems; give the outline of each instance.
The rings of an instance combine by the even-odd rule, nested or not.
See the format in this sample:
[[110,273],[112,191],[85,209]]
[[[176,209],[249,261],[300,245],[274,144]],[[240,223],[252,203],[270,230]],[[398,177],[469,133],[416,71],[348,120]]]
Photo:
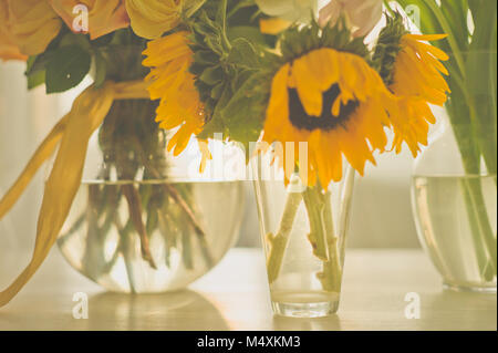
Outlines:
[[339,309],[354,170],[344,163],[326,190],[268,177],[253,163],[255,193],[273,312],[320,318]]

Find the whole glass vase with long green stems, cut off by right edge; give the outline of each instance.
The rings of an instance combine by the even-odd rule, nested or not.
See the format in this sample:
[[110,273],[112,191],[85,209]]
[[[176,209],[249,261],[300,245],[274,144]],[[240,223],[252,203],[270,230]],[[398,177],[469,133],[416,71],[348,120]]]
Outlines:
[[467,21],[455,22],[464,25],[450,34],[456,41],[442,42],[452,92],[436,138],[416,160],[412,195],[418,237],[445,287],[496,292],[496,2],[485,2],[470,9],[470,44]]

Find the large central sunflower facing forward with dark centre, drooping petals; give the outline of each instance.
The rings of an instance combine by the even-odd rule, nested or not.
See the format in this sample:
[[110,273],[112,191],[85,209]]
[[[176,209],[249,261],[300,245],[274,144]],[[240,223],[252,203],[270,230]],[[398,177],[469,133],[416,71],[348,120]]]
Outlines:
[[[308,168],[300,166],[300,173],[308,173],[308,185],[319,180],[326,188],[342,179],[342,155],[362,175],[367,160],[375,164],[373,152],[387,144],[384,126],[396,113],[394,102],[362,56],[314,49],[274,74],[263,141],[281,142],[283,149],[286,142],[307,142]],[[294,155],[293,165],[284,166],[287,181],[299,164],[299,150]]]

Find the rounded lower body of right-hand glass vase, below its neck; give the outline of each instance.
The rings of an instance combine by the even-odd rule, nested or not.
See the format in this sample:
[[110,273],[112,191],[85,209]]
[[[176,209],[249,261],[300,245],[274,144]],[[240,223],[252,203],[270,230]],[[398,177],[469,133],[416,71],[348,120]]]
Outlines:
[[[488,131],[492,134],[492,126]],[[444,287],[496,293],[497,175],[480,158],[474,162],[480,172],[466,168],[471,132],[471,125],[443,122],[416,159],[412,205],[418,238]]]

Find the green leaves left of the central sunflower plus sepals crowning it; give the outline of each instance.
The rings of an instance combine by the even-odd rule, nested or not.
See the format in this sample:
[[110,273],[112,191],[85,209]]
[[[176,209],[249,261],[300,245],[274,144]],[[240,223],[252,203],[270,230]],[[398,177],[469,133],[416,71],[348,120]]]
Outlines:
[[[363,38],[352,39],[342,20],[338,27],[321,29],[314,21],[305,27],[292,27],[278,38],[281,55],[271,53],[276,37],[259,32],[258,24],[228,25],[237,11],[253,11],[252,2],[235,7],[227,2],[228,18],[220,15],[219,8],[204,8],[194,18],[190,28],[195,61],[190,72],[197,76],[197,89],[207,110],[207,122],[200,138],[237,141],[249,150],[249,143],[261,135],[270,98],[271,82],[279,68],[309,51],[333,48],[357,54],[366,60],[370,52]],[[253,12],[253,22],[260,18]],[[258,20],[259,21],[259,20]],[[250,30],[248,30],[250,29]],[[256,33],[258,32],[258,33]]]

